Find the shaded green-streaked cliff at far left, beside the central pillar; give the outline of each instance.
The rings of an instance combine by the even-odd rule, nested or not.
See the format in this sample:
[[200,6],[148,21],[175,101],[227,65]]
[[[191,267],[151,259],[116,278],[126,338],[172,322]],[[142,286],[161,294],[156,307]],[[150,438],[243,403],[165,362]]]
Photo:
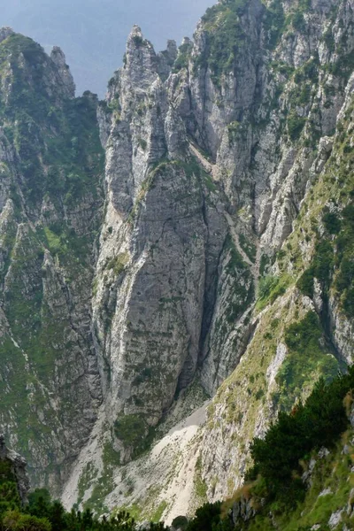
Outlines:
[[[54,490],[102,395],[91,283],[103,208],[96,99],[9,28],[0,44],[0,425]],[[58,490],[57,490],[58,492]]]

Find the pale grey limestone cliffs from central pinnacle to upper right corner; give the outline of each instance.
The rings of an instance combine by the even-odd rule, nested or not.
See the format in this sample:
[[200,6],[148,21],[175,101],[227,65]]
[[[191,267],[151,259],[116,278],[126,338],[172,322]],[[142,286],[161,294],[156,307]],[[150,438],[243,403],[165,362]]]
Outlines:
[[[129,36],[100,111],[109,202],[94,302],[118,438],[121,412],[154,426],[196,368],[212,393],[242,357],[259,276],[330,155],[352,68],[350,13],[221,2],[166,81],[139,28]],[[284,292],[293,272],[281,280],[278,267]]]

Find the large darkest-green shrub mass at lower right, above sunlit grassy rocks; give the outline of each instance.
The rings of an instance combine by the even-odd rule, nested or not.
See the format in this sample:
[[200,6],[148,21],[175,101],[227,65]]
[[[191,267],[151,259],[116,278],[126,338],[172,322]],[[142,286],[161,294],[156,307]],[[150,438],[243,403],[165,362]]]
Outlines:
[[329,384],[320,379],[304,405],[297,404],[290,413],[281,412],[266,437],[253,440],[254,468],[249,475],[260,473],[270,496],[292,505],[303,496],[299,461],[312,450],[331,447],[346,429],[349,420],[343,400],[353,386],[353,367]]

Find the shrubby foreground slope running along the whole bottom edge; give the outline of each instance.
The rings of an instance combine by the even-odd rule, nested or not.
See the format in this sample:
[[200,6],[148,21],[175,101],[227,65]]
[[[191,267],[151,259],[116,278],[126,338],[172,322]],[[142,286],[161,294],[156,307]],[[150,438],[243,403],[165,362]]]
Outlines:
[[[354,527],[354,370],[319,380],[304,404],[282,412],[264,439],[251,444],[254,466],[233,496],[180,515],[172,527],[145,521],[150,531],[342,531]],[[99,519],[89,508],[65,512],[45,489],[28,494],[26,462],[0,440],[0,527],[31,531],[135,531],[132,512]],[[137,506],[136,510],[139,508]]]

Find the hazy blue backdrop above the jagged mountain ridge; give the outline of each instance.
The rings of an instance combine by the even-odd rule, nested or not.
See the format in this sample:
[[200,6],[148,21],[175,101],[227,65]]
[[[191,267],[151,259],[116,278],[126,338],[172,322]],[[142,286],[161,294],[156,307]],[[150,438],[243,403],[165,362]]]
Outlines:
[[196,21],[213,0],[0,0],[0,26],[33,37],[44,47],[65,51],[80,94],[104,95],[121,64],[133,24],[157,50],[167,39],[192,35]]

